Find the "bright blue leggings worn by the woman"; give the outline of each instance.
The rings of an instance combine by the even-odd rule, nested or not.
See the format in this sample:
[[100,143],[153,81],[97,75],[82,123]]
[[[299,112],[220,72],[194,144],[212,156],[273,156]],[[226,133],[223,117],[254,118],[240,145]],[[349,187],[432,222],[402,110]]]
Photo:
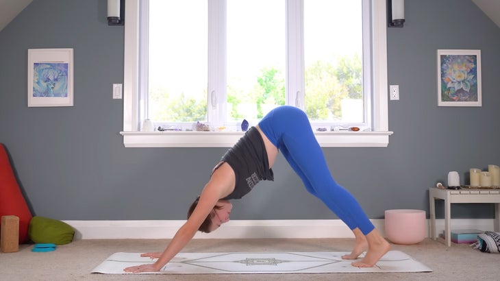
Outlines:
[[259,127],[282,151],[305,188],[351,230],[359,228],[366,235],[375,228],[353,195],[335,182],[305,112],[293,106],[280,106],[266,114]]

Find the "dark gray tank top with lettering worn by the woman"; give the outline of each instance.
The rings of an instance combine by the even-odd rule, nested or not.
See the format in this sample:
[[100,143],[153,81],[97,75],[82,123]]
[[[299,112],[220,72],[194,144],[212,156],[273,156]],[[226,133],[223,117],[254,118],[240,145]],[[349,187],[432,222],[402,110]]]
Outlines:
[[[274,180],[273,170],[269,169],[266,146],[255,127],[251,127],[238,143],[230,148],[221,158],[232,167],[236,176],[236,186],[233,193],[224,199],[240,199],[249,193],[260,180]],[[213,172],[212,172],[213,173]]]

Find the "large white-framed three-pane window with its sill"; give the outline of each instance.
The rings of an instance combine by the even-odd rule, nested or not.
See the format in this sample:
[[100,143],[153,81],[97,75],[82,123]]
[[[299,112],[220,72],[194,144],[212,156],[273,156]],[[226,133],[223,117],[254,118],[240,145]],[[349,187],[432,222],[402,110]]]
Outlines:
[[[316,132],[323,146],[387,146],[384,0],[127,0],[126,10],[125,146],[230,147],[243,119],[255,125],[282,104],[327,130]],[[139,132],[146,118],[168,130]],[[197,121],[212,132],[192,131]],[[362,132],[331,131],[347,126]]]

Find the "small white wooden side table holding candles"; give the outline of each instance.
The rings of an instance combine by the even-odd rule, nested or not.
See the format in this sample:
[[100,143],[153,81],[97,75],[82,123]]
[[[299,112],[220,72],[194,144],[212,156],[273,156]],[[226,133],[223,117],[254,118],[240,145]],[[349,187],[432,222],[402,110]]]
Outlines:
[[451,204],[453,203],[495,203],[495,232],[500,227],[500,189],[472,189],[458,190],[429,188],[429,205],[431,219],[431,238],[436,240],[436,199],[445,200],[445,238],[446,245],[451,246]]

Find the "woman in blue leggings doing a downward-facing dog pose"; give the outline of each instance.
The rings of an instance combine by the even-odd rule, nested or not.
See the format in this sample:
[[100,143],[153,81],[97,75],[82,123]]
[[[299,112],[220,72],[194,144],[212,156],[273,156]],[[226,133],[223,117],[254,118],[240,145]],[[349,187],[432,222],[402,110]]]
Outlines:
[[229,221],[232,209],[229,199],[241,198],[260,180],[273,180],[271,167],[279,150],[305,188],[353,231],[356,241],[353,251],[342,258],[355,260],[367,250],[364,258],[352,265],[373,267],[388,252],[389,243],[366,217],[358,201],[332,178],[305,113],[292,106],[280,106],[271,110],[256,127],[251,127],[216,164],[201,196],[188,211],[188,221],[164,252],[141,255],[158,260],[153,264],[127,267],[125,271],[159,271],[186,246],[197,230],[212,232]]

